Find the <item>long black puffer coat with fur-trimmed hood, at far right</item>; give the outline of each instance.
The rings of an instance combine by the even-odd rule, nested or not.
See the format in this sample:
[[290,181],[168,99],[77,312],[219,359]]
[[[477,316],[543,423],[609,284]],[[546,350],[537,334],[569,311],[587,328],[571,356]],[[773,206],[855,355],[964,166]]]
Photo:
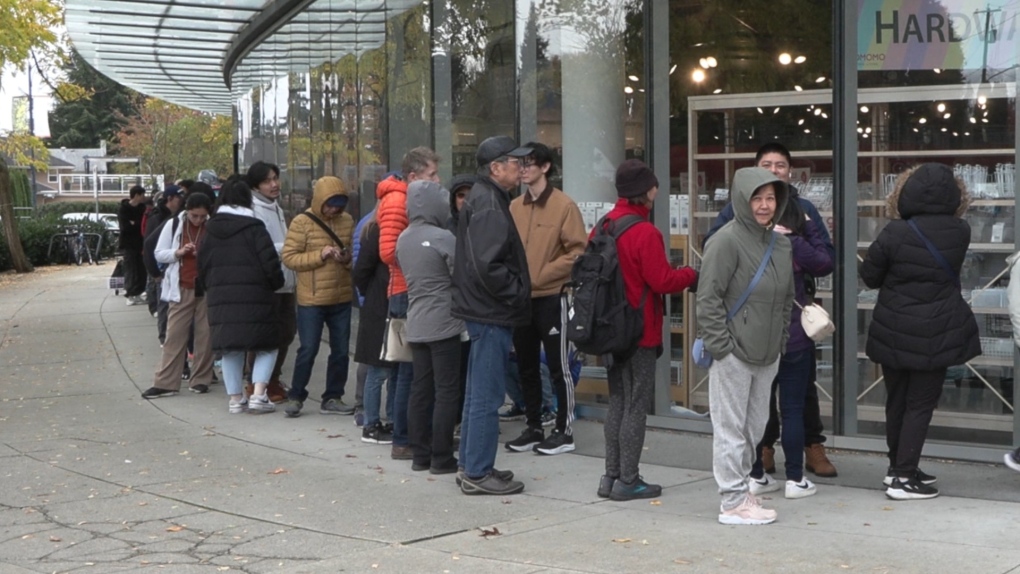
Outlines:
[[[977,321],[957,278],[970,246],[970,225],[953,169],[939,163],[917,168],[889,199],[903,219],[892,219],[868,248],[861,278],[878,289],[868,328],[868,358],[895,369],[935,370],[981,354]],[[894,203],[895,202],[895,203]],[[938,264],[910,227],[914,221],[956,276]]]

